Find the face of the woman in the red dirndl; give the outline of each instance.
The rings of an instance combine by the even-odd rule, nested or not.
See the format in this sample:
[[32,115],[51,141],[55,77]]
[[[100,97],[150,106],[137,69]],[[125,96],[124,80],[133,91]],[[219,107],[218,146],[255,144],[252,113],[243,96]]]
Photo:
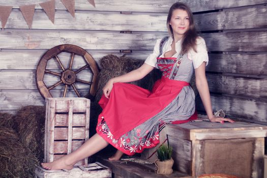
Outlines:
[[190,24],[188,13],[182,9],[175,9],[172,11],[169,24],[171,25],[173,36],[182,38]]

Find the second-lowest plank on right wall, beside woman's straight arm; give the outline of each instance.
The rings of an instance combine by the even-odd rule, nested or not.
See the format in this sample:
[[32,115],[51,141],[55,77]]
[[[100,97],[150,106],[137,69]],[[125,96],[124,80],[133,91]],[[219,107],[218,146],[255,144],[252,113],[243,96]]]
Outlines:
[[252,79],[207,74],[210,92],[267,99],[267,78]]

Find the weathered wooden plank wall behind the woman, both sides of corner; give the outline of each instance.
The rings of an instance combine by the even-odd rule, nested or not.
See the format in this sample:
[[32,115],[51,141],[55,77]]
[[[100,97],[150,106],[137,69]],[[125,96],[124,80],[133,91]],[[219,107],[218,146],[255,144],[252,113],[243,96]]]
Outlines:
[[[24,105],[44,105],[35,83],[42,54],[60,44],[87,50],[99,62],[112,53],[145,60],[156,39],[167,35],[166,16],[174,0],[103,1],[96,8],[87,0],[75,1],[75,18],[56,0],[54,24],[38,3],[46,0],[3,0],[13,6],[6,29],[0,32],[0,110],[15,111]],[[265,0],[191,0],[187,3],[210,51],[206,68],[213,109],[231,117],[267,122],[267,7]],[[37,4],[32,29],[18,6]],[[123,33],[130,31],[131,33]],[[62,54],[62,58],[68,58]],[[64,63],[64,62],[63,62]],[[65,62],[67,63],[67,62]],[[74,64],[78,68],[79,62]],[[52,62],[50,70],[58,70]],[[90,77],[90,76],[86,76]],[[53,84],[58,78],[48,76]],[[80,90],[86,90],[82,85]],[[61,93],[57,87],[54,93]],[[203,107],[197,102],[198,109]]]

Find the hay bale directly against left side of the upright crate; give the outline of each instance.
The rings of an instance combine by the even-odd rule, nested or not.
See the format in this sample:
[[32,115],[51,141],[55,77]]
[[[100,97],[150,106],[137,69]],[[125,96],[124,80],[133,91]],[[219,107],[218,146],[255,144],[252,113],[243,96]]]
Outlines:
[[19,140],[40,162],[44,158],[45,106],[25,106],[14,117]]

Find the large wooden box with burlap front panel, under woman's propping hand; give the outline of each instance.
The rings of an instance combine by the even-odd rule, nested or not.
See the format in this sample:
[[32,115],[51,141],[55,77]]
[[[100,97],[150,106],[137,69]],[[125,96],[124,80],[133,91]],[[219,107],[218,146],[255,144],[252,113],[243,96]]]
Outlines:
[[167,125],[174,168],[193,177],[226,173],[263,177],[264,137],[267,126],[235,122],[192,122]]

